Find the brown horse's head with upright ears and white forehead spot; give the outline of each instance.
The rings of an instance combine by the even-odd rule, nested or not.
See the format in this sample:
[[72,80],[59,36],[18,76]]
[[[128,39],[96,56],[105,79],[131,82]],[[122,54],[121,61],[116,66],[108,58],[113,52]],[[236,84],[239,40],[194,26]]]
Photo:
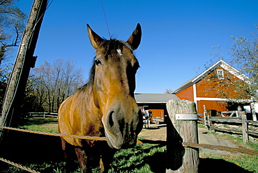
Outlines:
[[139,68],[132,51],[142,37],[141,26],[126,42],[100,38],[87,24],[91,45],[96,49],[94,78],[94,104],[102,113],[102,123],[109,147],[121,149],[136,144],[142,130],[142,113],[134,97],[135,74]]

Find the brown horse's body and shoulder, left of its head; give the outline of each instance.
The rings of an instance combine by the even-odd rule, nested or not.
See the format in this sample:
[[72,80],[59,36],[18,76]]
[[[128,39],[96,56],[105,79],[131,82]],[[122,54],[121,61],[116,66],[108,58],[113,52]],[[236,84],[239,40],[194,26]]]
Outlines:
[[[75,92],[59,107],[59,131],[68,135],[101,136],[103,124],[100,110],[93,103],[90,91]],[[77,138],[64,138],[68,143],[82,146]]]

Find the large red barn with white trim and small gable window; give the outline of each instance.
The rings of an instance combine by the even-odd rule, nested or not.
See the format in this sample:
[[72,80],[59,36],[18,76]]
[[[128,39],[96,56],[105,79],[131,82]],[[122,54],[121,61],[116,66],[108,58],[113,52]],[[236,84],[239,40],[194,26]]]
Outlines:
[[[214,76],[216,77],[214,78]],[[237,99],[241,91],[234,85],[216,85],[218,80],[226,78],[230,78],[233,82],[240,82],[248,87],[246,83],[248,76],[241,74],[223,60],[219,60],[218,63],[206,69],[202,74],[183,83],[173,94],[176,94],[179,99],[195,101],[198,114],[204,113],[204,105],[206,109],[227,111],[229,110],[229,100],[236,103],[250,103],[250,97]],[[225,84],[226,82],[225,80]],[[220,92],[222,90],[223,92]]]

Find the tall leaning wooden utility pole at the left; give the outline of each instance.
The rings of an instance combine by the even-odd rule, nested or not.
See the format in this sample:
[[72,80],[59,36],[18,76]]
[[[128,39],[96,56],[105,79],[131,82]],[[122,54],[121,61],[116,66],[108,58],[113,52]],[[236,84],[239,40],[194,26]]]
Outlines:
[[[0,115],[0,126],[16,124],[19,110],[22,105],[26,82],[31,67],[34,67],[36,57],[33,53],[36,48],[40,26],[43,21],[47,0],[34,0],[31,13],[22,35],[19,50],[17,52],[15,65],[8,81],[6,94],[3,99],[3,107]],[[0,142],[3,138],[3,129],[0,129]]]

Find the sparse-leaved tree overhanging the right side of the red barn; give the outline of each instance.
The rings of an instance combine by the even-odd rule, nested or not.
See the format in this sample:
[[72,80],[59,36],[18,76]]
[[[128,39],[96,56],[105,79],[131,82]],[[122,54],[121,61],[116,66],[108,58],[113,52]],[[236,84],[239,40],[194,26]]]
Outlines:
[[235,99],[258,99],[256,94],[258,90],[258,27],[257,24],[255,26],[257,30],[252,33],[250,38],[232,36],[233,42],[231,47],[227,48],[227,56],[222,56],[220,46],[214,47],[215,53],[211,54],[213,59],[206,67],[210,67],[215,61],[222,59],[238,69],[239,76],[243,74],[248,76],[248,78],[243,78],[242,80],[237,80],[235,76],[227,74],[223,79],[219,80],[217,74],[213,78],[211,77],[209,80],[213,83],[215,82],[214,86],[219,88],[218,93],[220,96],[226,96],[227,94],[225,93],[229,92],[228,88],[234,86]]

